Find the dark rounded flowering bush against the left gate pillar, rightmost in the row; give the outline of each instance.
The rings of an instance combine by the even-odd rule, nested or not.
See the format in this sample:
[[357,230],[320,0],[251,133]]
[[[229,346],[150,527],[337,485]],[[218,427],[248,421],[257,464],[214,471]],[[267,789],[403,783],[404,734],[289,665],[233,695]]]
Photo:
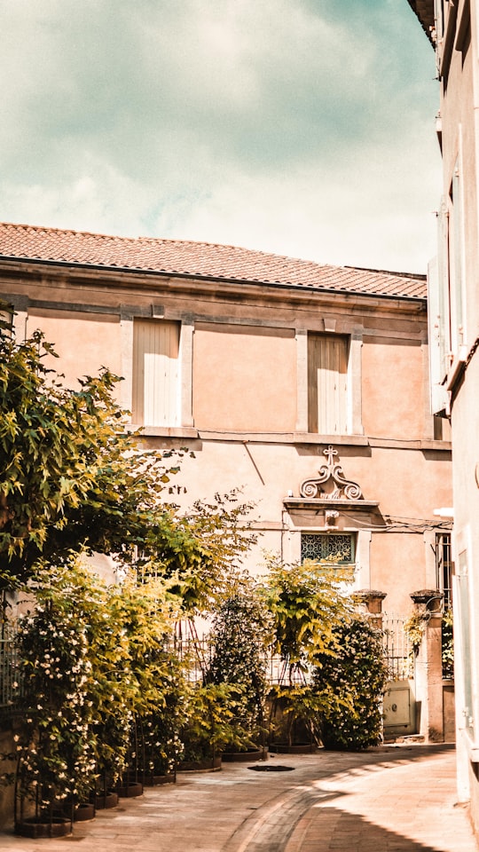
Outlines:
[[325,707],[321,731],[328,748],[363,749],[381,741],[381,698],[388,677],[381,633],[355,616],[334,628],[334,654],[316,659],[318,690],[333,691],[342,706]]

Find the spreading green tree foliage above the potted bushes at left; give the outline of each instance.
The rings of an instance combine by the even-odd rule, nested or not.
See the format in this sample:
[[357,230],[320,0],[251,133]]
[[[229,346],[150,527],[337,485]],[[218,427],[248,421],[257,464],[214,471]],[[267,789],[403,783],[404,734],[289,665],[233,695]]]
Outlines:
[[204,607],[251,536],[236,493],[181,513],[165,495],[185,449],[151,451],[126,428],[120,379],[102,369],[79,390],[45,366],[40,332],[17,343],[0,329],[0,583],[15,587],[40,558],[73,550],[166,578],[190,609]]

